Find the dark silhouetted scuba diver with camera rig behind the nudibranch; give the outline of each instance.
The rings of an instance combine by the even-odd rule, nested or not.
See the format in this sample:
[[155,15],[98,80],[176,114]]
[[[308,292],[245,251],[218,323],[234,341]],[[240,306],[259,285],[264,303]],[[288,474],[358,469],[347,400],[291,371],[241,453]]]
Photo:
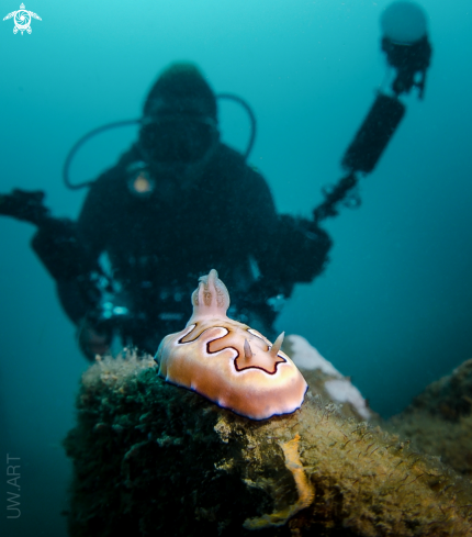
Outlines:
[[[400,93],[413,86],[423,92],[426,26],[413,45],[385,35],[383,48],[398,74],[393,96],[379,93],[345,155],[347,176],[325,191],[312,220],[279,215],[265,179],[246,164],[250,147],[243,156],[221,142],[216,97],[192,64],[173,64],[157,79],[136,143],[83,183],[90,190],[77,222],[50,216],[42,192],[0,195],[0,214],[38,226],[33,249],[55,279],[87,357],[105,353],[113,335],[155,353],[190,317],[195,280],[212,268],[232,290],[231,316],[273,335],[294,284],[326,266],[331,239],[319,222],[337,214],[339,203],[358,204],[358,172],[373,169],[404,114]],[[252,143],[254,115],[243,105]],[[68,180],[70,159],[88,137],[66,161],[70,188],[77,188]]]

